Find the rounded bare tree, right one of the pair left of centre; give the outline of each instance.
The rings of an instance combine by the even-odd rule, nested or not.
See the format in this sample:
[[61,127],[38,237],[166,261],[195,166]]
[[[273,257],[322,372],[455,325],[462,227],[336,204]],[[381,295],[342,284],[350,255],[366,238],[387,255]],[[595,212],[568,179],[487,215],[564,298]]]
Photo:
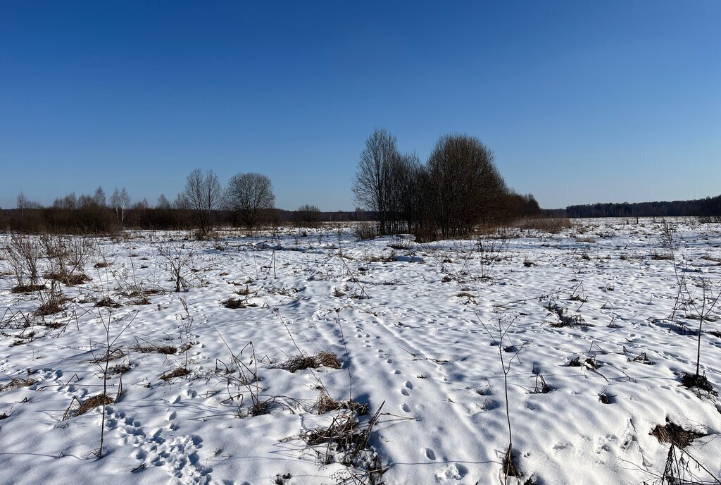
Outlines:
[[233,175],[226,188],[226,204],[237,212],[240,222],[252,229],[265,211],[273,209],[275,194],[270,178],[259,173]]

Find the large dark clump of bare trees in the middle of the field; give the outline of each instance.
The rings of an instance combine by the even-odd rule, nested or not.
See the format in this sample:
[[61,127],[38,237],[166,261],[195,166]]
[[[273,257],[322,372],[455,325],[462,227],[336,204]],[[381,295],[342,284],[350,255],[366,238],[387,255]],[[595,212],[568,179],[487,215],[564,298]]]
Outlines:
[[395,136],[376,129],[361,152],[353,193],[376,214],[381,234],[463,236],[476,224],[540,210],[533,196],[508,189],[493,152],[466,135],[441,136],[423,165],[415,153],[399,152]]

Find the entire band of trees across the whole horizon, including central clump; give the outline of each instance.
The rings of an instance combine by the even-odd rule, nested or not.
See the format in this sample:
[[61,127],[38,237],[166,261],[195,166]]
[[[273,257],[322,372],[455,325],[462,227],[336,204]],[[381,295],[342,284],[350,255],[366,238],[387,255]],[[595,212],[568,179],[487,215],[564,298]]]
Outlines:
[[0,230],[23,232],[113,233],[126,227],[191,230],[207,235],[216,225],[253,229],[261,225],[318,227],[322,221],[366,222],[372,234],[415,234],[418,240],[464,237],[478,225],[500,225],[523,217],[681,217],[721,222],[721,196],[691,201],[608,203],[541,209],[531,194],[508,188],[493,152],[478,139],[441,136],[428,160],[402,153],[384,128],[366,139],[353,195],[355,211],[322,212],[304,204],[296,211],[275,208],[270,178],[257,173],[233,175],[221,185],[213,170],[195,169],[170,201],[161,194],[154,206],[131,202],[128,191],[102,187],[92,194],[68,193],[51,206],[17,196],[15,209],[0,209]]

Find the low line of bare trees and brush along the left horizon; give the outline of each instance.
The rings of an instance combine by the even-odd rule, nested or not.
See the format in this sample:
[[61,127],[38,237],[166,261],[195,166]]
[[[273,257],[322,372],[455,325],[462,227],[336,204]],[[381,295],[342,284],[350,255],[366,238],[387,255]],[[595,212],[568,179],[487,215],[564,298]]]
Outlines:
[[77,232],[108,234],[128,227],[191,230],[207,235],[217,225],[253,229],[261,224],[293,223],[307,227],[326,220],[352,219],[354,213],[323,213],[304,204],[296,211],[276,209],[273,185],[266,175],[239,173],[221,185],[213,170],[190,172],[185,188],[173,201],[161,194],[155,206],[146,199],[131,203],[128,191],[115,188],[107,197],[102,187],[92,194],[56,198],[45,207],[17,196],[15,209],[0,210],[0,229],[23,232]]

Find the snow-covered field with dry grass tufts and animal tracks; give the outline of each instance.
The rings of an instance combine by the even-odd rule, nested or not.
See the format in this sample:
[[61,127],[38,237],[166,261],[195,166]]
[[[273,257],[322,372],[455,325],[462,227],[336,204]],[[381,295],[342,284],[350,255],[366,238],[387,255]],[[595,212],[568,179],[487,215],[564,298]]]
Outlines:
[[673,483],[719,483],[721,403],[681,379],[704,315],[721,387],[721,227],[671,222],[676,265],[652,219],[481,244],[133,232],[47,315],[50,281],[13,293],[4,257],[0,483],[503,483],[508,418],[509,484],[660,484],[667,421],[696,433]]

